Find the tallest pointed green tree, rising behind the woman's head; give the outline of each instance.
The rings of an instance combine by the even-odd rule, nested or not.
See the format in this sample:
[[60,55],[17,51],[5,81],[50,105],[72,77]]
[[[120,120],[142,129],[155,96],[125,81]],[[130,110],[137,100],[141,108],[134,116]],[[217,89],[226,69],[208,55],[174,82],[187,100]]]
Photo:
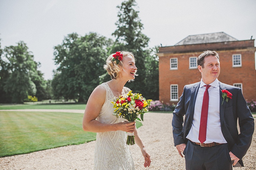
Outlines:
[[147,99],[158,99],[158,60],[148,48],[149,38],[142,33],[143,24],[138,16],[139,11],[136,10],[137,3],[135,0],[128,0],[117,8],[119,20],[116,22],[117,29],[112,34],[116,41],[111,52],[131,51],[136,58],[139,76],[134,82],[128,83],[127,87],[136,93],[142,93]]

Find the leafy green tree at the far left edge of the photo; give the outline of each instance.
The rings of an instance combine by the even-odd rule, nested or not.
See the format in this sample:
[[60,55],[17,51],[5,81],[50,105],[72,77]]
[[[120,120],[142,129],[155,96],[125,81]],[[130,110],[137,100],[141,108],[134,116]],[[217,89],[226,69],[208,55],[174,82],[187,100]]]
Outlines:
[[11,102],[23,103],[28,95],[35,96],[37,90],[32,75],[37,74],[38,63],[34,61],[26,44],[20,41],[17,46],[5,47],[0,58],[1,86],[5,92],[1,102],[9,99]]

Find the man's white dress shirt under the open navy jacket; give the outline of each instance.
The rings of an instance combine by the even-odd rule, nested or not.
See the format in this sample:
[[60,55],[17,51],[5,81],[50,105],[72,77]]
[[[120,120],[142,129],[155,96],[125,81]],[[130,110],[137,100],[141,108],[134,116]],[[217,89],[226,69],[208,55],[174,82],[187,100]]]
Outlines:
[[[192,127],[189,131],[187,139],[192,142],[199,142],[199,127],[201,120],[201,110],[203,104],[203,97],[206,85],[201,79],[200,87],[198,89],[198,94],[195,100],[195,110],[194,118],[192,121]],[[209,92],[209,108],[208,108],[208,118],[207,118],[207,130],[206,130],[206,141],[204,143],[227,143],[221,132],[221,120],[220,120],[220,85],[218,79],[212,82],[208,89]]]

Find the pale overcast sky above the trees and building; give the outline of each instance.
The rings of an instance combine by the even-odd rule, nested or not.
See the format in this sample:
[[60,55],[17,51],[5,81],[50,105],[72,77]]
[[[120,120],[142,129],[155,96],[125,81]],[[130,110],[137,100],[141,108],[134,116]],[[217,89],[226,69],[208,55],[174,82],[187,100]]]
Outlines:
[[[136,0],[149,46],[175,45],[189,35],[225,32],[256,38],[256,0]],[[53,47],[67,34],[112,38],[122,0],[0,0],[1,46],[24,41],[45,79],[52,79]]]

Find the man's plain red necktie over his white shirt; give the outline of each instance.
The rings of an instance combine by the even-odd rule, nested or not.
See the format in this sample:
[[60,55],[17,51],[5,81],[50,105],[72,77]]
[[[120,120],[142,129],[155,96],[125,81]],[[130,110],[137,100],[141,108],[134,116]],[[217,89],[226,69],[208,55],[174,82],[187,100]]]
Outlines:
[[202,105],[202,111],[201,111],[201,120],[200,120],[200,128],[199,128],[199,141],[201,143],[204,143],[206,141],[206,129],[207,129],[207,117],[208,117],[208,107],[209,107],[209,93],[208,88],[210,85],[204,85],[206,86],[204,91],[204,99],[203,99],[203,105]]

